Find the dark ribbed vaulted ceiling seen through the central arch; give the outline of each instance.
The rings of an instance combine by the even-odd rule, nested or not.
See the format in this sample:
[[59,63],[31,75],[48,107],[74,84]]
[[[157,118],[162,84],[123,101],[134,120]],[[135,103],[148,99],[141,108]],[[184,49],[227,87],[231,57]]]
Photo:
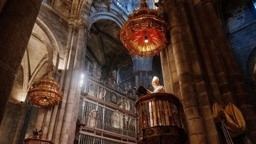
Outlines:
[[87,50],[99,65],[109,68],[120,55],[129,55],[120,40],[120,29],[117,23],[107,19],[93,23]]

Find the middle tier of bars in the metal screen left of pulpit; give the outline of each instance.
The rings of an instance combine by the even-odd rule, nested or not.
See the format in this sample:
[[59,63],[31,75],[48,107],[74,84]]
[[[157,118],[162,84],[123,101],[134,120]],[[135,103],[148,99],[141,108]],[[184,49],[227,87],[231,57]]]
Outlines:
[[135,117],[86,99],[80,102],[80,107],[82,107],[78,112],[80,124],[127,137],[136,137]]

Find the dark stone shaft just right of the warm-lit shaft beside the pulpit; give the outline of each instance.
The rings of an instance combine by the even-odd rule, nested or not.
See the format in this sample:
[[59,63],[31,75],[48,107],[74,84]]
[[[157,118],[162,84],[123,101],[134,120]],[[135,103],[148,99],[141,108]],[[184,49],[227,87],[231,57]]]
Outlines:
[[209,91],[209,85],[206,83],[207,81],[205,78],[204,67],[202,65],[202,58],[199,56],[197,41],[194,35],[193,27],[191,26],[185,2],[177,2],[177,9],[179,10],[179,17],[183,29],[183,42],[187,46],[187,57],[190,60],[189,65],[191,66],[191,73],[194,76],[197,99],[204,119],[207,143],[220,143],[218,132],[212,116],[212,97]]

